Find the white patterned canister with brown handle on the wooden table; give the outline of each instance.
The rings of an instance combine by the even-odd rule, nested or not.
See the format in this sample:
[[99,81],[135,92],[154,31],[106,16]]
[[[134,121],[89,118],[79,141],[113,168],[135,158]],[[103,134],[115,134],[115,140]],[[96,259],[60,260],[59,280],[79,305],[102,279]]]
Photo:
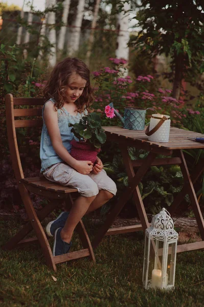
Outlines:
[[[163,121],[163,119],[165,119]],[[149,132],[162,120],[162,125],[150,136],[148,140],[152,142],[169,142],[169,131],[171,120],[169,115],[152,114],[149,123]]]

